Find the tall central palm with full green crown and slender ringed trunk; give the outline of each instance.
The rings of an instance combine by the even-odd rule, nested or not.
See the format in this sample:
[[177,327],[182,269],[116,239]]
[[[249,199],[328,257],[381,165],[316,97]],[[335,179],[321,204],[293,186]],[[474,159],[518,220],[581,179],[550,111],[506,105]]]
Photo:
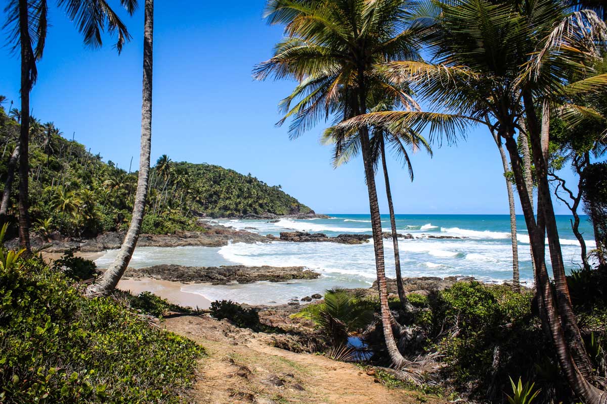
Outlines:
[[[254,76],[295,79],[292,97],[280,105],[282,124],[293,118],[290,136],[304,133],[319,119],[334,116],[334,123],[366,113],[373,88],[373,65],[416,54],[413,33],[404,30],[408,0],[268,0],[264,12],[270,24],[285,25],[286,38],[274,48],[274,56],[257,65]],[[384,267],[384,245],[375,172],[368,127],[359,128],[371,228],[378,277],[385,343],[395,366],[405,359],[399,353],[392,329]]]

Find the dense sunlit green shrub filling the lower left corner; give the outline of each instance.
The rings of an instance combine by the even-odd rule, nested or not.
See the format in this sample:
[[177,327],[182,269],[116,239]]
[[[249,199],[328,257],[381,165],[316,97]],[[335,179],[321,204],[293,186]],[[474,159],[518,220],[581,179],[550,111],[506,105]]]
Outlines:
[[37,259],[0,268],[0,401],[178,403],[202,349]]

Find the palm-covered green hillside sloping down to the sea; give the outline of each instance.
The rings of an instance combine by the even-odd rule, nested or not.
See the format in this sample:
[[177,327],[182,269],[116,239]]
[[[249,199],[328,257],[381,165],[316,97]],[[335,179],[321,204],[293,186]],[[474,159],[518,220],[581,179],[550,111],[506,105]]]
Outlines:
[[[19,132],[19,111],[0,108],[0,187],[5,188]],[[76,141],[52,122],[30,125],[30,220],[34,230],[94,236],[121,230],[131,220],[137,172],[129,173]],[[69,137],[69,136],[68,136]],[[16,222],[18,177],[13,167],[7,217]],[[143,233],[172,233],[195,227],[200,216],[310,213],[280,186],[217,165],[158,159],[151,172]]]

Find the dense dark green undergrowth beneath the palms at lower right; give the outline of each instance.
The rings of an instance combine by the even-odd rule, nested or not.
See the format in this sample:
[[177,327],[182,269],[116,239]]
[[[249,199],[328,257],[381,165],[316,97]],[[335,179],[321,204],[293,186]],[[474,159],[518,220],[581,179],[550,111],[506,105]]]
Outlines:
[[[607,295],[603,292],[607,277],[603,271],[581,270],[568,277],[568,282],[586,348],[597,374],[603,376],[607,371],[603,348],[607,343]],[[390,308],[404,327],[398,339],[399,349],[411,361],[407,368],[415,371],[436,362],[442,366],[438,371],[436,366],[428,366],[415,378],[378,377],[380,381],[503,402],[510,379],[523,380],[534,383],[532,393],[538,391],[538,402],[574,402],[554,346],[534,312],[532,291],[517,293],[507,285],[459,282],[444,291],[407,297],[412,305],[409,312],[401,310],[398,299],[390,299]],[[368,316],[368,310],[374,310],[375,317]],[[369,363],[389,367],[379,315],[377,297],[339,290],[327,291],[324,302],[308,305],[294,317],[313,320],[317,331],[332,344],[327,353],[339,348],[347,354],[341,359],[356,357],[343,348],[345,336],[362,333],[367,344],[364,349],[372,353]]]

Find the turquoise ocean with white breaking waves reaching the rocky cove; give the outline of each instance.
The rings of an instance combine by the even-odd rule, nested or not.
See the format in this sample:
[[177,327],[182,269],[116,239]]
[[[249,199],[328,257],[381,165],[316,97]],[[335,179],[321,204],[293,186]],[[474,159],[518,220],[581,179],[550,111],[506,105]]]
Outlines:
[[[568,271],[580,268],[580,245],[571,231],[570,216],[557,216],[563,260]],[[260,234],[279,236],[281,231],[308,231],[337,234],[371,234],[371,220],[365,214],[331,214],[329,219],[270,220],[222,219],[215,224]],[[390,217],[382,215],[384,231],[390,231]],[[517,216],[520,278],[523,285],[533,285],[529,237],[522,216]],[[401,270],[404,277],[473,276],[484,282],[512,280],[512,245],[508,215],[398,214],[398,233],[413,236],[458,236],[463,239],[400,239]],[[580,224],[586,244],[594,248],[592,227],[587,217]],[[548,251],[548,246],[546,246]],[[384,240],[385,270],[395,277],[392,240]],[[117,251],[107,251],[96,262],[107,267]],[[290,299],[342,286],[367,288],[375,279],[373,242],[362,245],[322,243],[230,243],[225,247],[140,247],[135,250],[131,266],[149,267],[173,263],[195,267],[218,265],[302,266],[322,274],[319,279],[290,282],[257,282],[245,285],[185,285],[183,291],[198,293],[209,300],[231,299],[249,304],[281,304]]]

